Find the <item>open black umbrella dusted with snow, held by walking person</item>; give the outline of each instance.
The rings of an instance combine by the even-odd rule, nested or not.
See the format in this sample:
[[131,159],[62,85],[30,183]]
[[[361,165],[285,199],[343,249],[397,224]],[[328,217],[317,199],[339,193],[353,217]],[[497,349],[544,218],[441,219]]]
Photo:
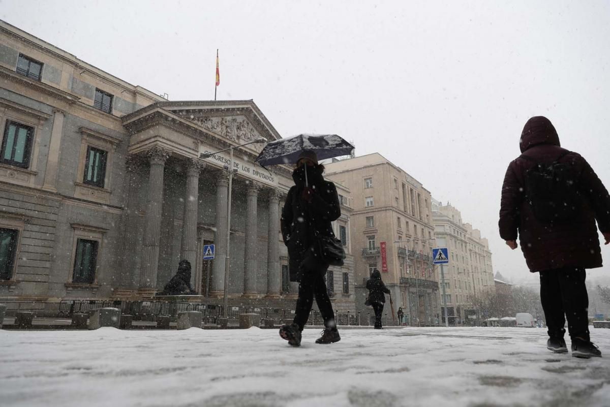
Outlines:
[[[350,155],[353,149],[354,146],[336,134],[300,134],[271,141],[255,161],[262,166],[296,164],[303,151],[312,151],[318,160],[325,160]],[[305,177],[305,185],[307,185],[307,172]]]

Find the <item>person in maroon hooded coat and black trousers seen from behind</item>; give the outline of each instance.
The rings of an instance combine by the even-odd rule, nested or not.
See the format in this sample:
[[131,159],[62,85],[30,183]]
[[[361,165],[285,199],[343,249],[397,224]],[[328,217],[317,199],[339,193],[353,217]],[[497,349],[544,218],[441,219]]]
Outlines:
[[[520,140],[523,153],[511,161],[504,177],[500,204],[500,236],[511,249],[521,250],[531,272],[540,274],[540,301],[547,320],[547,348],[568,352],[564,341],[568,321],[572,356],[601,356],[589,337],[584,284],[585,269],[601,267],[601,250],[595,221],[610,242],[610,195],[589,163],[580,154],[561,148],[553,124],[543,117],[529,119]],[[538,163],[565,163],[576,180],[580,206],[564,221],[542,221],[526,199],[526,173]],[[530,202],[528,202],[530,201]]]

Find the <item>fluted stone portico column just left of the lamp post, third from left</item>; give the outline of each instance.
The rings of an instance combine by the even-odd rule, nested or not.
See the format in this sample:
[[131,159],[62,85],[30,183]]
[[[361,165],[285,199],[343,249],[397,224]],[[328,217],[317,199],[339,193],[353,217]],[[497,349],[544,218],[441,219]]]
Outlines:
[[210,282],[210,297],[222,297],[224,294],[224,261],[227,252],[227,199],[229,194],[229,180],[224,172],[218,179],[216,186],[216,232],[214,233],[214,266],[212,281]]

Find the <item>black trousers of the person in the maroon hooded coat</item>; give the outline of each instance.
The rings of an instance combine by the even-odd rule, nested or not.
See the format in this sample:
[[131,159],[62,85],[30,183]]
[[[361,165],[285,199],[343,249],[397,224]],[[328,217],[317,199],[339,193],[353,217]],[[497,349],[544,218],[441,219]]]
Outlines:
[[540,302],[547,319],[549,336],[562,338],[565,318],[570,338],[589,341],[589,297],[584,269],[564,267],[540,272]]

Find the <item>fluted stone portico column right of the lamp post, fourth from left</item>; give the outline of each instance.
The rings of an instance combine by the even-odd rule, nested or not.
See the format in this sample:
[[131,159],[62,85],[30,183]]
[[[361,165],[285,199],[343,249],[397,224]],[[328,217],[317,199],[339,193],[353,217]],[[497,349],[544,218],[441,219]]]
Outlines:
[[243,296],[256,297],[257,200],[259,186],[250,182],[246,193],[246,246],[244,253]]

